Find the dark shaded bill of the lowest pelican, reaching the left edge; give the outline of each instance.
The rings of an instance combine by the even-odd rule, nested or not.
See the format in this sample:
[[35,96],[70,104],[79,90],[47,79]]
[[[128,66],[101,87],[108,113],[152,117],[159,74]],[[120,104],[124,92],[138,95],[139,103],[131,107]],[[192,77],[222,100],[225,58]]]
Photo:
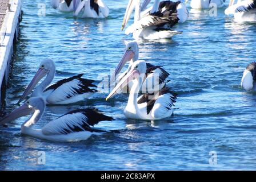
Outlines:
[[33,112],[33,110],[29,109],[29,106],[27,106],[26,104],[23,104],[22,106],[18,107],[18,109],[15,109],[10,114],[1,118],[0,125],[11,122],[11,121],[13,121],[17,118],[23,117],[25,115],[29,115],[32,112]]

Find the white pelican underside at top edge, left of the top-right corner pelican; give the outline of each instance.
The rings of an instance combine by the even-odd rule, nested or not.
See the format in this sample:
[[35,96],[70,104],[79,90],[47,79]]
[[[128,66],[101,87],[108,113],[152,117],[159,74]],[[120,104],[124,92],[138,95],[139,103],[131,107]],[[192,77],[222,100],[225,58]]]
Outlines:
[[[209,9],[211,4],[215,4],[217,7],[223,7],[226,0],[191,0],[190,7],[192,9]],[[185,3],[189,2],[186,0]]]

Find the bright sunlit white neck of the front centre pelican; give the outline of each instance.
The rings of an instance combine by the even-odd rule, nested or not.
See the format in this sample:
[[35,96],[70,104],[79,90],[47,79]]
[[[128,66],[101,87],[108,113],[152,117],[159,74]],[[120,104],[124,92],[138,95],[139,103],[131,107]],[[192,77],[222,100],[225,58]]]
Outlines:
[[133,80],[133,86],[131,86],[130,94],[127,102],[127,107],[132,107],[129,109],[133,109],[136,114],[139,115],[139,108],[138,108],[138,93],[139,89],[141,89],[142,85],[142,78],[145,76],[145,74],[141,74],[137,79]]

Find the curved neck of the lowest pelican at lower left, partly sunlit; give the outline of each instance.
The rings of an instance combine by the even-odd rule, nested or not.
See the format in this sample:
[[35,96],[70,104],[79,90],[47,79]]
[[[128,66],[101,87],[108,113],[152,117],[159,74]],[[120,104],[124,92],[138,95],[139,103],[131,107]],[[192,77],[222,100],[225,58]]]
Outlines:
[[43,106],[42,109],[35,110],[30,119],[21,125],[21,132],[26,133],[26,131],[29,130],[30,127],[35,125],[35,123],[37,123],[42,118],[43,111],[45,111],[45,106]]

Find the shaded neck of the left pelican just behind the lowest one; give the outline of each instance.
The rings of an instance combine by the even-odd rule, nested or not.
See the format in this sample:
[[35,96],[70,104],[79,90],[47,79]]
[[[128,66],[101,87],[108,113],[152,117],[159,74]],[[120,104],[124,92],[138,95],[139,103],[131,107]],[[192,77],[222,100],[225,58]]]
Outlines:
[[31,97],[39,97],[42,96],[43,91],[47,88],[47,86],[49,86],[51,84],[51,81],[53,81],[53,78],[55,76],[55,68],[53,70],[50,70],[50,72],[48,73],[48,75],[46,76],[45,80],[43,80],[41,82],[41,84],[39,84],[34,92],[32,93]]

